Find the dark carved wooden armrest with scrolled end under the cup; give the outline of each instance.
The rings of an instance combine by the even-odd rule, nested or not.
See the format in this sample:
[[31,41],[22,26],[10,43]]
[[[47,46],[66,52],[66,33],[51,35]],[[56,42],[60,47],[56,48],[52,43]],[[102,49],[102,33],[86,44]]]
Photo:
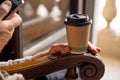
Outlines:
[[[89,66],[91,71],[95,70],[94,73],[85,72]],[[26,79],[31,79],[72,67],[79,67],[80,71],[82,71],[80,75],[85,80],[99,80],[104,74],[104,63],[101,58],[88,53],[82,55],[45,56],[38,60],[0,67],[0,69],[8,71],[10,74],[21,73]],[[91,74],[92,76],[89,76]]]

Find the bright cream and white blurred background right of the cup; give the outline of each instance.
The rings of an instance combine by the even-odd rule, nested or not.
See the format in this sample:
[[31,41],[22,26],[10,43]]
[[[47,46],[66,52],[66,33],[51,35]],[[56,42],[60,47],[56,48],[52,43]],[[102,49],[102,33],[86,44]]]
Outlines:
[[100,55],[102,56],[106,66],[105,75],[102,80],[120,79],[119,3],[119,0],[99,0],[96,4],[96,6],[99,7],[99,10],[96,12],[98,18],[96,23],[96,44],[102,48]]

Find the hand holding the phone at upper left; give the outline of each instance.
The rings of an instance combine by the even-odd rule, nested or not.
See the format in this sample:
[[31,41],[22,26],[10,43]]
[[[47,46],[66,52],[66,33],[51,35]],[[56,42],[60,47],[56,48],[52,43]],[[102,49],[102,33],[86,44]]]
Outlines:
[[12,4],[6,0],[0,4],[0,51],[11,39],[15,28],[21,24],[22,19],[18,14],[12,15],[7,20],[2,20],[4,16],[10,11]]

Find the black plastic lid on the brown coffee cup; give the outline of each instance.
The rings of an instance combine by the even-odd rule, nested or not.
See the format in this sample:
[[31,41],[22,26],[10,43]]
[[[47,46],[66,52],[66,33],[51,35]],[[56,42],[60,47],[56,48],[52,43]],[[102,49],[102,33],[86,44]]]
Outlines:
[[65,19],[65,24],[71,26],[84,26],[91,23],[92,20],[86,14],[71,14]]

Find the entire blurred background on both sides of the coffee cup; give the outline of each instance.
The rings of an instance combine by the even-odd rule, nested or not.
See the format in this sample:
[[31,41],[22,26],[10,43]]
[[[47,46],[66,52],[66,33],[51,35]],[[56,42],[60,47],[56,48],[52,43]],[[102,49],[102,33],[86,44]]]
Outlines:
[[50,4],[48,0],[26,1],[21,13],[24,56],[66,42],[64,19],[71,14],[71,6],[72,13],[76,13],[77,7],[78,13],[86,13],[93,19],[90,41],[101,47],[100,55],[106,66],[101,80],[120,79],[120,0],[49,0]]

